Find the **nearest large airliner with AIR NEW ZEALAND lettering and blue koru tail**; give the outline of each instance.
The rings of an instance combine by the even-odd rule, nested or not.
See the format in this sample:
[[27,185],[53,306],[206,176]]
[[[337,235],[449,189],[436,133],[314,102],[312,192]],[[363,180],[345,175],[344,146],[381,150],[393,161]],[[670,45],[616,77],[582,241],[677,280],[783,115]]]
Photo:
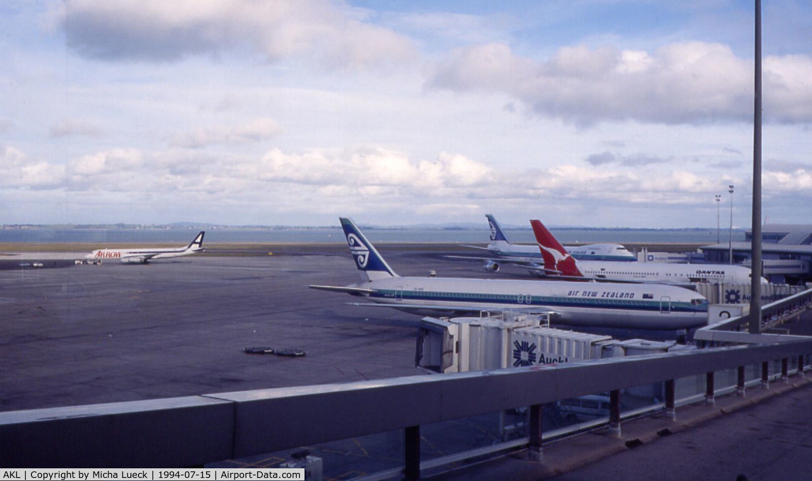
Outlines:
[[676,286],[400,277],[352,220],[342,217],[340,221],[361,281],[310,287],[370,301],[356,305],[446,316],[479,311],[550,312],[555,323],[607,328],[688,329],[707,323],[706,298]]

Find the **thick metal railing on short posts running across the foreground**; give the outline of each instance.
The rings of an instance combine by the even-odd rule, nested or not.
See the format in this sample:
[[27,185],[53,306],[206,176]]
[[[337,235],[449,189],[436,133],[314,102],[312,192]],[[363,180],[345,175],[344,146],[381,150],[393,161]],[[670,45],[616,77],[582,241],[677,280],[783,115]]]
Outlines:
[[678,378],[736,367],[741,373],[774,359],[784,360],[785,369],[786,359],[810,353],[812,340],[801,338],[557,367],[9,411],[0,413],[0,466],[201,466],[404,429],[404,472],[416,477],[421,425],[530,406],[532,449],[541,443],[534,407],[543,403],[659,381],[666,391],[671,383],[673,403]]

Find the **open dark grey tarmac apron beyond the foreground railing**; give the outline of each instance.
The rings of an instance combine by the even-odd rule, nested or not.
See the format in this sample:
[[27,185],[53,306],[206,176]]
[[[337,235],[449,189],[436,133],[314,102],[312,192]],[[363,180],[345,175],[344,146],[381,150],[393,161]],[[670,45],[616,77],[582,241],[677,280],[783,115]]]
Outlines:
[[[381,251],[404,275],[487,275],[433,249]],[[0,410],[421,374],[417,316],[307,287],[357,279],[344,246],[2,270]],[[247,346],[307,356],[245,354]]]

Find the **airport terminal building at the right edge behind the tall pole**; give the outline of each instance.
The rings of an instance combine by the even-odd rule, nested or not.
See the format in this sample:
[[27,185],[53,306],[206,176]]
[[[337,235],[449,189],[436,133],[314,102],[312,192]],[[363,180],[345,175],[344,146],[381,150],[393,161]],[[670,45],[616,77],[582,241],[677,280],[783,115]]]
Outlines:
[[[708,262],[727,264],[732,252],[733,264],[749,264],[752,231],[745,242],[703,246]],[[762,260],[764,275],[775,283],[812,280],[812,225],[767,224],[762,226]]]

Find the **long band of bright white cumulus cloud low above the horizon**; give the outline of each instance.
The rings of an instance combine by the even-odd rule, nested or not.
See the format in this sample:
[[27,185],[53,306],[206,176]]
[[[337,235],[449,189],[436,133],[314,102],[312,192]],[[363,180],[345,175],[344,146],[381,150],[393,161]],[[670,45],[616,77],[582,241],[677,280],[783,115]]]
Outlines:
[[[663,166],[653,175],[650,170],[624,165],[626,157],[610,157],[599,169],[562,164],[544,170],[497,170],[460,153],[440,152],[423,159],[380,147],[303,153],[273,148],[261,157],[190,149],[143,152],[113,148],[60,165],[0,146],[0,191],[69,192],[76,206],[109,197],[116,202],[206,202],[232,210],[261,205],[273,213],[306,209],[331,215],[354,212],[359,205],[378,213],[429,214],[450,212],[443,207],[475,213],[510,205],[525,206],[517,209],[526,211],[527,206],[555,204],[599,213],[607,208],[653,205],[706,208],[720,185],[749,182],[728,174]],[[765,171],[765,195],[793,192],[797,197],[809,197],[812,167],[784,167]],[[308,200],[304,204],[303,198]]]

